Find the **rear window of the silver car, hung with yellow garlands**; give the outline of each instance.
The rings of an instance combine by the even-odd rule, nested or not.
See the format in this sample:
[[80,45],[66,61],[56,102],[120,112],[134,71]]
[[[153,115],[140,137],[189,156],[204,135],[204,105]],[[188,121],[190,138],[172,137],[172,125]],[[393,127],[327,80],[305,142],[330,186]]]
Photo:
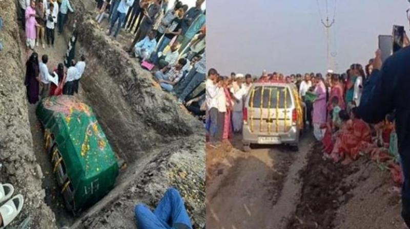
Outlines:
[[277,93],[279,91],[279,108],[285,108],[285,90],[286,90],[286,108],[292,107],[292,94],[288,87],[280,87],[280,86],[263,86],[263,97],[262,97],[262,86],[255,86],[254,87],[255,93],[252,98],[252,90],[249,94],[249,107],[252,106],[253,100],[253,107],[260,108],[261,105],[261,98],[263,98],[262,107],[268,108],[269,106],[269,94],[271,93],[271,108],[276,108],[276,101],[277,101]]

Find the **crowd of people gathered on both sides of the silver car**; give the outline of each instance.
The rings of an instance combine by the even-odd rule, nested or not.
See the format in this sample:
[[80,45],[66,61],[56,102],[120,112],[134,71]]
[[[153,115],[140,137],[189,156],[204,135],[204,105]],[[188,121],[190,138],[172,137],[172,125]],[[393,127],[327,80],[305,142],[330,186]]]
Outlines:
[[[312,129],[323,144],[323,158],[333,163],[349,164],[360,155],[369,155],[384,163],[397,185],[402,185],[402,216],[410,226],[410,174],[406,155],[408,108],[403,93],[408,81],[408,47],[385,63],[381,52],[363,67],[354,63],[343,74],[329,71],[324,77],[306,73],[284,76],[267,74],[252,79],[247,74],[219,76],[214,68],[208,73],[207,133],[211,147],[240,132],[243,101],[252,82],[282,82],[294,84],[305,108],[304,128]],[[398,94],[399,93],[399,94]],[[400,151],[400,154],[399,154]]]

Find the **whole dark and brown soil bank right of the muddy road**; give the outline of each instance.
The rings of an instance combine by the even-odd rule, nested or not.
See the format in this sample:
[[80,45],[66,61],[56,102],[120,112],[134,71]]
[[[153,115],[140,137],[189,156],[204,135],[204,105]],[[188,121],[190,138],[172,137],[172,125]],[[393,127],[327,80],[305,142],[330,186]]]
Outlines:
[[349,165],[324,161],[316,144],[301,173],[301,198],[288,228],[405,228],[400,194],[380,168],[366,157]]

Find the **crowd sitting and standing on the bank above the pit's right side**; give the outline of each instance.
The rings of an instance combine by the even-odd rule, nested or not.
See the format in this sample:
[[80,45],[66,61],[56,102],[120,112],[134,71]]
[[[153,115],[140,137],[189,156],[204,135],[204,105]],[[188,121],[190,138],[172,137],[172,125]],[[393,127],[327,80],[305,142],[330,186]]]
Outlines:
[[181,1],[168,6],[163,0],[99,0],[95,20],[108,19],[108,36],[116,38],[121,29],[133,34],[128,50],[142,68],[153,74],[160,87],[178,98],[178,103],[198,117],[204,102],[206,79],[206,26],[201,9]]

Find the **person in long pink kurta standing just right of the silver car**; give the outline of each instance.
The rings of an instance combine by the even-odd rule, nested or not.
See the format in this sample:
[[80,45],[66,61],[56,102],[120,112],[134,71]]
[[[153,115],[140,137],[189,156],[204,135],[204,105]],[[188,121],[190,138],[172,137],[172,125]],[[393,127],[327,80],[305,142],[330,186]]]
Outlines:
[[321,126],[326,123],[326,86],[320,74],[316,75],[315,93],[316,99],[313,101],[313,133],[318,141],[323,139]]

